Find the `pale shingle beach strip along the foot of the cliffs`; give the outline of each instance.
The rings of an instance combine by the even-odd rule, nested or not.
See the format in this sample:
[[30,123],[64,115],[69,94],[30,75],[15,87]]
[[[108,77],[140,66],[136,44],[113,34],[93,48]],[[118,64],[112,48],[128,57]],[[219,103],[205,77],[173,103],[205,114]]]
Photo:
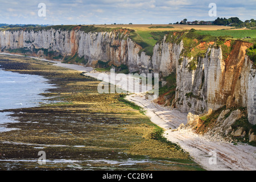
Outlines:
[[[38,59],[37,57],[32,58]],[[52,62],[51,60],[44,61]],[[56,61],[53,63],[56,63]],[[82,69],[82,66],[75,67],[75,65],[72,64],[57,63],[57,65],[75,69],[76,71],[81,71],[80,69]],[[86,67],[84,67],[84,71],[85,70]],[[97,74],[92,75],[85,73],[84,75],[97,78]],[[238,143],[235,146],[232,143],[211,141],[187,129],[172,131],[171,129],[177,129],[181,123],[184,123],[184,125],[187,123],[186,113],[181,113],[177,109],[168,109],[167,107],[155,104],[152,100],[147,100],[143,94],[130,94],[126,99],[143,107],[151,122],[165,130],[164,137],[171,142],[179,144],[181,148],[189,152],[197,164],[200,164],[205,169],[224,171],[256,170],[256,147],[243,143]],[[211,155],[211,152],[215,152],[216,156]],[[213,157],[216,159],[216,163],[214,164],[210,163]]]

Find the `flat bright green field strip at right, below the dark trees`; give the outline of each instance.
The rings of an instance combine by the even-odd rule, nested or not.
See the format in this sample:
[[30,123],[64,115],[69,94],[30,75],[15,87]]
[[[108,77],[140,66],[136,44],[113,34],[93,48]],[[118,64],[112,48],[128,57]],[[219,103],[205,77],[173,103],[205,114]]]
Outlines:
[[256,39],[256,30],[199,30],[196,32],[201,35],[232,36],[234,39],[241,39],[248,36],[251,39]]

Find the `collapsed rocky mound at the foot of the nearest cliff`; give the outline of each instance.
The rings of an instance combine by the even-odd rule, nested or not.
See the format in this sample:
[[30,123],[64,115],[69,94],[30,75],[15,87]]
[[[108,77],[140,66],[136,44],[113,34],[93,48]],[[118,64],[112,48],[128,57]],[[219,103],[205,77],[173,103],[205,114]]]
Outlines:
[[[204,117],[207,117],[209,114],[204,115]],[[191,129],[197,134],[203,134],[210,140],[232,142],[239,139],[242,141],[247,140],[247,142],[256,141],[253,129],[250,129],[248,132],[243,126],[236,126],[236,122],[241,120],[244,114],[240,109],[233,111],[225,109],[221,111],[216,120],[213,119],[210,123],[205,123],[199,115],[188,113],[188,122],[185,125],[185,129]]]

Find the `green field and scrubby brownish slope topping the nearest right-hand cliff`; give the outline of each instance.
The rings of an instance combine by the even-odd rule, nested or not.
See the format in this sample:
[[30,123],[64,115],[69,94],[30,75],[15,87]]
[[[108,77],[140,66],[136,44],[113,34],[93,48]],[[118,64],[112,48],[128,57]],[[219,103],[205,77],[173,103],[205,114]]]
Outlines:
[[[184,49],[183,51],[181,51],[180,56],[186,56],[190,58],[193,57],[195,61],[198,57],[206,56],[207,49],[209,46],[221,47],[222,57],[225,60],[228,57],[229,53],[232,51],[233,44],[236,42],[236,40],[250,43],[256,42],[256,39],[254,39],[254,36],[256,35],[256,32],[254,32],[255,30],[239,31],[241,32],[237,32],[236,30],[196,31],[194,29],[191,29],[189,31],[171,32],[167,35],[166,42],[179,44],[181,40],[183,40]],[[243,34],[243,31],[249,32],[247,33],[249,35],[255,35],[246,39],[238,39],[238,37],[240,37],[240,35]],[[248,51],[249,55],[253,55],[252,52],[253,48],[250,51]]]

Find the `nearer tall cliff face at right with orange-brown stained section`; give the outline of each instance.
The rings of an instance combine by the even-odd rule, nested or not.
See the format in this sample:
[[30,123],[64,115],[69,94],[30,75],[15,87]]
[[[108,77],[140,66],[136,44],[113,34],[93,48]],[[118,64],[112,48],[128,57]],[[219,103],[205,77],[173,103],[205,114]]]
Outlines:
[[[231,46],[226,43],[226,45]],[[172,106],[195,114],[217,110],[226,105],[246,107],[248,120],[256,124],[256,70],[245,55],[251,43],[237,41],[224,60],[221,46],[209,46],[204,57],[182,56],[183,40],[179,44],[157,44],[152,56],[154,71],[167,76],[176,71],[176,93]]]

